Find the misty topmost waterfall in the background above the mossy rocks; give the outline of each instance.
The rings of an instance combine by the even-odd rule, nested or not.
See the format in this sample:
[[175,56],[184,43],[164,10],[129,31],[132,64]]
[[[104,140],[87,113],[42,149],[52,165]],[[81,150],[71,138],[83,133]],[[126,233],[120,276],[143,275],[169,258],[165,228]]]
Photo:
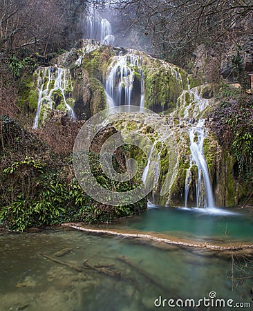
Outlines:
[[87,39],[100,40],[102,44],[112,45],[114,42],[114,36],[111,30],[111,23],[108,19],[102,19],[99,15],[94,13],[86,17],[86,31],[85,35]]

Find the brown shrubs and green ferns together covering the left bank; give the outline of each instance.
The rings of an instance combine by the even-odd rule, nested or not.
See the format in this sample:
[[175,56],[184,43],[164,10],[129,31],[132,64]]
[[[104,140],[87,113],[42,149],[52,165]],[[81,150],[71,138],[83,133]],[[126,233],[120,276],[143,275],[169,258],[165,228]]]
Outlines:
[[[75,179],[71,156],[69,150],[55,152],[15,120],[1,117],[0,221],[3,227],[24,231],[71,221],[109,223],[115,218],[140,213],[146,207],[145,200],[118,207],[92,200]],[[99,154],[92,153],[91,157],[95,177],[108,189]],[[124,169],[117,159],[113,163],[116,168]],[[115,187],[117,191],[125,191],[137,185],[127,182]]]

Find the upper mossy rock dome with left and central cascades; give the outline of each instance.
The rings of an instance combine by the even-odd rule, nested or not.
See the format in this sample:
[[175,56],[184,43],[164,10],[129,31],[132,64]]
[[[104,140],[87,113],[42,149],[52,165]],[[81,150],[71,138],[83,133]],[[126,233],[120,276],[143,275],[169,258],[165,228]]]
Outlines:
[[[122,64],[119,55],[129,55],[129,60],[126,57]],[[132,57],[136,63],[130,65]],[[71,51],[53,59],[52,66],[38,68],[28,83],[24,100],[34,113],[37,111],[35,127],[44,122],[50,109],[68,111],[77,120],[86,120],[106,109],[104,87],[113,66],[116,66],[115,79],[111,88],[118,89],[122,97],[131,93],[132,104],[142,101],[143,106],[156,112],[172,111],[178,96],[190,83],[184,70],[145,53],[113,48],[93,39],[80,40]],[[131,83],[129,73],[124,70],[131,73]],[[124,77],[118,84],[120,72]]]

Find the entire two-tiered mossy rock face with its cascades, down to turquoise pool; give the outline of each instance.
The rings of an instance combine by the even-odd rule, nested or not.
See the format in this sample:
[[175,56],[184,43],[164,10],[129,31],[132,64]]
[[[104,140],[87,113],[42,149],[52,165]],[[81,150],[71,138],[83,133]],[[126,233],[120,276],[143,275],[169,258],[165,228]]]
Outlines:
[[[199,59],[199,70],[203,70],[201,62]],[[71,74],[66,79],[66,85],[71,87],[64,88],[63,95],[67,103],[71,104],[73,100],[71,107],[77,120],[86,120],[107,106],[118,104],[137,104],[140,109],[148,108],[167,115],[160,118],[159,135],[138,122],[128,124],[114,120],[115,128],[106,129],[112,131],[111,134],[115,129],[133,130],[144,133],[153,141],[156,156],[151,154],[149,159],[143,160],[142,153],[133,151],[133,156],[138,158],[142,167],[146,167],[145,173],[139,176],[144,183],[152,182],[152,165],[156,171],[160,164],[158,183],[149,196],[151,202],[187,207],[232,206],[239,202],[241,194],[233,176],[233,158],[218,144],[210,125],[212,120],[204,120],[216,106],[216,94],[220,91],[217,84],[194,86],[198,82],[173,64],[136,50],[105,46],[91,39],[79,41],[70,52],[57,57],[55,64],[67,68]],[[35,73],[34,86],[40,76]],[[50,83],[46,83],[47,80],[45,85],[50,93]],[[46,88],[41,87],[41,92]],[[66,104],[62,104],[64,96],[54,92],[49,104],[56,111],[65,107],[62,110],[68,113],[65,117],[69,117]],[[50,109],[50,105],[46,107]],[[155,119],[151,117],[149,122],[158,122]],[[64,122],[64,119],[60,117],[55,122]],[[100,135],[101,141],[93,144],[94,152],[97,152],[97,145],[104,143],[107,134]],[[210,192],[214,193],[215,203],[207,199]]]

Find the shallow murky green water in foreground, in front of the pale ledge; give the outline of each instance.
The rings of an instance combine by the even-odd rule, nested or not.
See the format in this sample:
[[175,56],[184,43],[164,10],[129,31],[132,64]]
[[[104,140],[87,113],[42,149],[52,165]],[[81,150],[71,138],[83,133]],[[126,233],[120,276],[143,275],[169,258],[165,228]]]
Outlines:
[[[232,291],[231,258],[201,249],[154,246],[62,229],[1,234],[0,310],[159,310],[153,302],[160,295],[198,300],[211,291],[218,298],[251,301],[250,279],[236,286],[237,280]],[[95,270],[84,267],[84,261]],[[69,265],[81,267],[81,272]],[[234,273],[240,276],[236,269]]]

